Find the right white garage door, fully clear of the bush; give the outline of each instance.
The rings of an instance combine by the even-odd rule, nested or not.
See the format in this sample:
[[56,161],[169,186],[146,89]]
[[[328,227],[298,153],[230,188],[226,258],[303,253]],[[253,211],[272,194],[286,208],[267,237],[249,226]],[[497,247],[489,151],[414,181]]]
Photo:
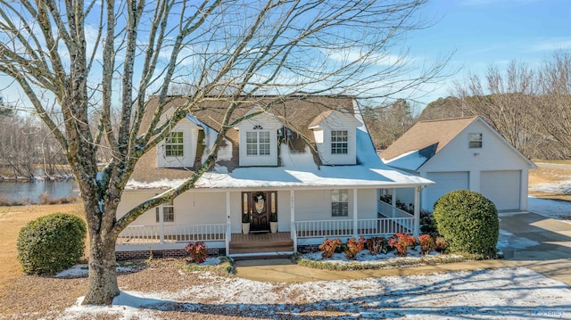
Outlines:
[[519,209],[521,171],[482,171],[480,192],[499,210]]

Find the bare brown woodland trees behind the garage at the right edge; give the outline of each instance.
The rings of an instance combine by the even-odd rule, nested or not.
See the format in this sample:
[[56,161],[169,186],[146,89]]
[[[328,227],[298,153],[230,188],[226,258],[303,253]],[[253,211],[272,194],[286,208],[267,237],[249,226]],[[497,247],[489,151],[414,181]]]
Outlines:
[[554,53],[539,66],[490,66],[456,84],[455,96],[429,103],[419,119],[479,115],[530,159],[571,157],[571,55]]

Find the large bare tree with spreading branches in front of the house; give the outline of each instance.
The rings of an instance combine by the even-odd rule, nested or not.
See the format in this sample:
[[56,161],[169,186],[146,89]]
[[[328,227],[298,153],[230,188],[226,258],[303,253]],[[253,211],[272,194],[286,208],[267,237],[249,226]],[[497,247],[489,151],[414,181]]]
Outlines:
[[[283,102],[310,94],[386,97],[437,80],[444,62],[411,73],[405,59],[390,54],[404,34],[426,27],[415,15],[425,3],[0,0],[0,73],[26,94],[79,185],[89,231],[83,303],[109,304],[119,294],[117,236],[145,211],[192,188],[211,168],[228,128],[244,119],[233,118],[244,101],[265,96],[266,102]],[[180,85],[186,102],[161,122],[171,87]],[[151,96],[158,104],[152,111],[146,109]],[[212,100],[224,103],[224,120],[202,165],[181,185],[116,218],[141,155],[187,112]],[[117,125],[113,108],[120,110]],[[148,112],[151,120],[142,127]],[[112,159],[100,170],[103,147]]]

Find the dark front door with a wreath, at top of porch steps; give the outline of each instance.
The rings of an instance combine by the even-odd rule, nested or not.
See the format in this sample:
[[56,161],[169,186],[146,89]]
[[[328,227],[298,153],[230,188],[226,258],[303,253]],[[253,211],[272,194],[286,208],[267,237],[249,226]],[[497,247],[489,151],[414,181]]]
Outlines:
[[[269,231],[270,198],[275,200],[275,193],[270,196],[269,192],[257,191],[242,193],[244,200],[242,212],[250,214],[250,231]],[[275,204],[274,204],[275,210]]]

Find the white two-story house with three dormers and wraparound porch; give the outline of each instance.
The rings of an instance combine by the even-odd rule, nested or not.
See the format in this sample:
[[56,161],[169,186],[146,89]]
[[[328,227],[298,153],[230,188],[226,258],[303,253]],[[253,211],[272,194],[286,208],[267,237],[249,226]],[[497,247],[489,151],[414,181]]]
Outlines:
[[[150,251],[177,255],[191,241],[235,255],[292,252],[325,238],[418,234],[420,190],[432,182],[379,160],[354,98],[276,103],[256,97],[242,103],[235,117],[261,108],[267,111],[228,131],[216,165],[194,189],[146,212],[120,234],[120,258]],[[153,111],[153,99],[147,110]],[[165,108],[164,119],[172,110]],[[137,163],[118,215],[191,176],[211,151],[224,112],[223,102],[204,103],[173,126]],[[414,215],[378,201],[383,189],[401,188],[416,195]],[[270,232],[271,220],[277,220],[276,233]],[[249,222],[248,234],[243,221]]]

